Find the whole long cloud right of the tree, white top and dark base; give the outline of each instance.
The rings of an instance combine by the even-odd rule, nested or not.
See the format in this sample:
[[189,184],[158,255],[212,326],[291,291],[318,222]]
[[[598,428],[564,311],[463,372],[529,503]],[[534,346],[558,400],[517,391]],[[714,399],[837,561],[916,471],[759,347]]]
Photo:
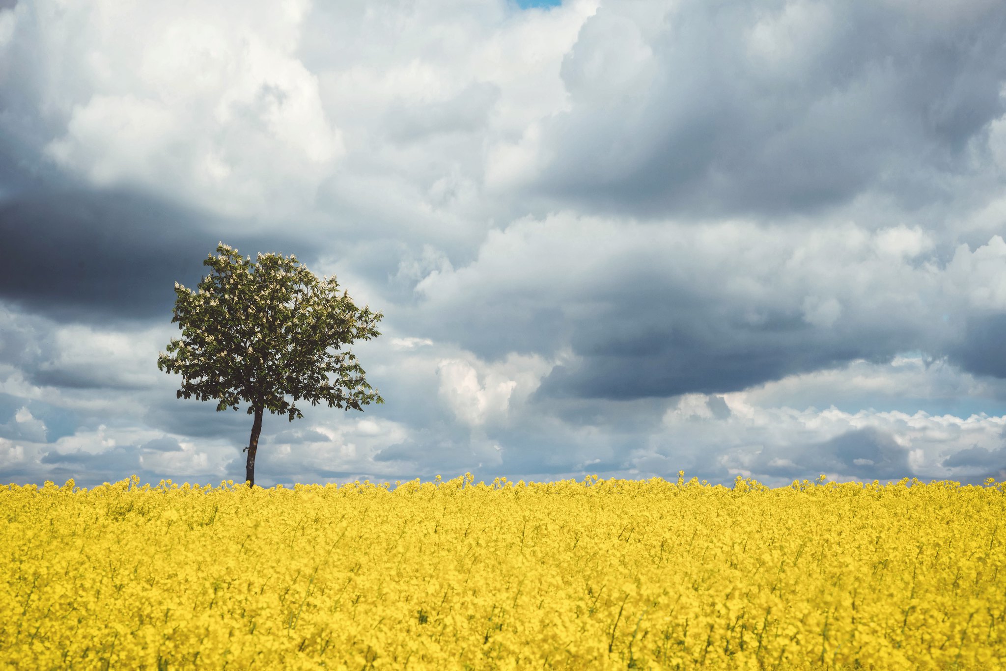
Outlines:
[[618,226],[563,213],[494,231],[475,263],[431,273],[426,300],[401,309],[416,335],[487,359],[569,347],[535,401],[721,394],[856,359],[942,355],[961,330],[943,314],[967,309],[960,274],[885,249],[897,236],[927,248],[907,228]]

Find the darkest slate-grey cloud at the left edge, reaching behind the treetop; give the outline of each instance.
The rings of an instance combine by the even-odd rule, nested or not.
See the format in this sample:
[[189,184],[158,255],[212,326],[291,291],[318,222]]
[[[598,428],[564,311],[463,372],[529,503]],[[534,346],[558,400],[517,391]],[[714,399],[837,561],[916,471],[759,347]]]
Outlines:
[[57,321],[170,322],[174,283],[195,288],[221,235],[253,260],[276,247],[312,261],[313,245],[297,235],[212,231],[220,225],[211,215],[121,189],[20,193],[0,202],[0,297]]

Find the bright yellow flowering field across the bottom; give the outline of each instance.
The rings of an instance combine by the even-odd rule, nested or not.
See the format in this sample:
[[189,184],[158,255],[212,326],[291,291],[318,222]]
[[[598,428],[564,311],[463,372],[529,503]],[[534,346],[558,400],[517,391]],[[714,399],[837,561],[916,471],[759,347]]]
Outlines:
[[1006,483],[0,488],[12,668],[1006,666]]

